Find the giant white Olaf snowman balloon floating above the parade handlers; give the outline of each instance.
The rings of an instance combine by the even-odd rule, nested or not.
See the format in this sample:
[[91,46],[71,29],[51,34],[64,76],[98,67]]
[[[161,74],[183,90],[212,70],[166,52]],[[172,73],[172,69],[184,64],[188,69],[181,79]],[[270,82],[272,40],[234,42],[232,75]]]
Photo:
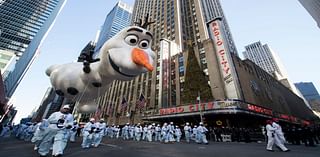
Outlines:
[[[46,70],[58,95],[78,101],[77,111],[92,113],[94,99],[104,94],[114,80],[129,81],[153,70],[152,34],[146,26],[130,26],[106,41],[94,61],[52,65]],[[141,25],[141,20],[140,20]]]

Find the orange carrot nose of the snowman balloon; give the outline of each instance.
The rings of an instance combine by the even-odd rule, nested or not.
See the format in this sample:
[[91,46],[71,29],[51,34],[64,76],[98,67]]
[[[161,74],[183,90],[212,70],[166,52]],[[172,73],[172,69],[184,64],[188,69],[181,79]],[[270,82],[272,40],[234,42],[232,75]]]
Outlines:
[[153,66],[149,63],[148,55],[139,48],[134,48],[131,53],[131,57],[134,63],[144,66],[149,71],[153,70]]

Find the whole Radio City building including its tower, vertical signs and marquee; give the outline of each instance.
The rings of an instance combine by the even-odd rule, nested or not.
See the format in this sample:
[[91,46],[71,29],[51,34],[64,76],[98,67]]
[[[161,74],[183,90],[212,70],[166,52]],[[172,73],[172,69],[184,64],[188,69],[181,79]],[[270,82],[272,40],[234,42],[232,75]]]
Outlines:
[[[222,121],[226,126],[248,127],[264,125],[264,120],[272,117],[308,123],[313,117],[302,105],[303,100],[274,78],[270,79],[276,87],[270,92],[276,94],[270,97],[276,101],[270,103],[266,95],[257,98],[252,89],[268,87],[265,82],[257,82],[263,80],[262,76],[271,76],[261,72],[251,78],[253,72],[245,70],[245,63],[238,65],[222,9],[217,17],[205,16],[217,12],[217,8],[221,9],[218,0],[137,0],[133,22],[147,15],[149,21],[155,21],[148,30],[153,32],[156,68],[132,81],[114,81],[98,100],[101,117],[109,124],[120,125],[146,121],[196,124],[206,119],[210,125]],[[252,69],[263,71],[251,64]],[[141,95],[146,102],[142,108]],[[123,100],[128,103],[125,108]]]

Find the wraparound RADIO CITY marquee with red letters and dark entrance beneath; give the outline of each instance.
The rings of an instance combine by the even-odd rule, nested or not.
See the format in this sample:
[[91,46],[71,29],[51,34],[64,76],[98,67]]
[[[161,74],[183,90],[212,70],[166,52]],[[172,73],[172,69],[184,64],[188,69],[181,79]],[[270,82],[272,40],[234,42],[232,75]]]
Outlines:
[[185,122],[198,124],[201,119],[208,126],[224,127],[259,127],[265,125],[265,120],[278,118],[287,124],[310,124],[293,115],[276,113],[272,109],[249,104],[239,100],[213,101],[201,104],[189,104],[172,108],[161,108],[158,114],[147,116],[145,121]]

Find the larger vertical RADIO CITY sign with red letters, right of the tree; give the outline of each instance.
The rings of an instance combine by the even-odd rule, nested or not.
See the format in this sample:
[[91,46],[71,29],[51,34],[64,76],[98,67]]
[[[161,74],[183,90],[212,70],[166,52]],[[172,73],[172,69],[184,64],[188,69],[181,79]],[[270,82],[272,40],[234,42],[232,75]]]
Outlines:
[[224,38],[221,24],[221,19],[216,18],[215,20],[208,23],[208,30],[211,33],[212,39],[214,40],[216,55],[219,62],[218,65],[220,67],[220,73],[223,78],[226,96],[229,99],[238,99],[239,95],[237,94],[238,90],[236,88],[237,77],[235,74],[235,68],[233,66],[230,52],[225,46],[225,43],[227,44],[227,41]]

